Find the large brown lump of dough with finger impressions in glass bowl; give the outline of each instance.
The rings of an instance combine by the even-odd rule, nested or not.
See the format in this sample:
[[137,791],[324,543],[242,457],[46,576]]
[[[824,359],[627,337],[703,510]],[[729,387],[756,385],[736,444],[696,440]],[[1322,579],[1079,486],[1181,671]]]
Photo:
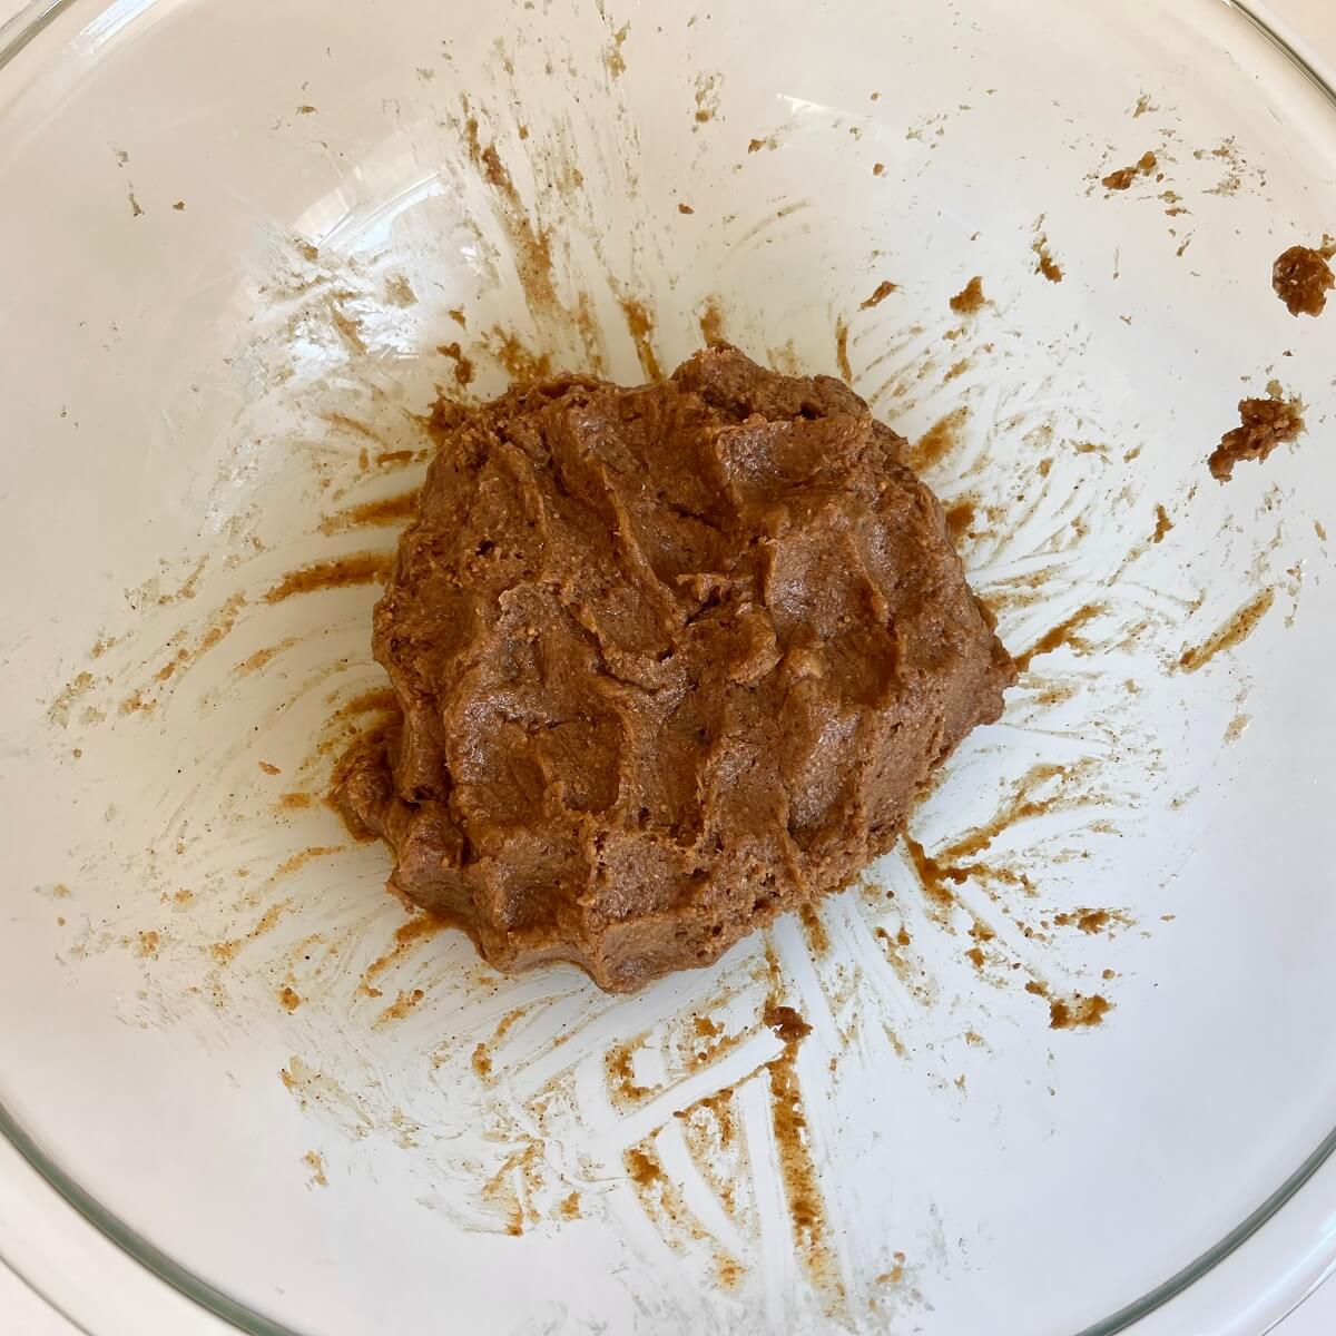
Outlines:
[[341,802],[502,970],[604,989],[848,884],[1014,668],[906,442],[728,345],[441,402]]

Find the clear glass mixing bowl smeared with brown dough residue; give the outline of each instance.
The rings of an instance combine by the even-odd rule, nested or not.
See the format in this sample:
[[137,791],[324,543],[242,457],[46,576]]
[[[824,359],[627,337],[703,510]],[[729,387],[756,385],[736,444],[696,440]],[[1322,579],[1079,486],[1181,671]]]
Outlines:
[[[1217,0],[20,16],[0,1252],[98,1336],[1285,1312],[1336,1257],[1336,311],[1272,263],[1333,180]],[[802,922],[500,978],[323,803],[421,414],[705,333],[915,442],[1025,671]],[[1272,382],[1307,434],[1221,485]]]

